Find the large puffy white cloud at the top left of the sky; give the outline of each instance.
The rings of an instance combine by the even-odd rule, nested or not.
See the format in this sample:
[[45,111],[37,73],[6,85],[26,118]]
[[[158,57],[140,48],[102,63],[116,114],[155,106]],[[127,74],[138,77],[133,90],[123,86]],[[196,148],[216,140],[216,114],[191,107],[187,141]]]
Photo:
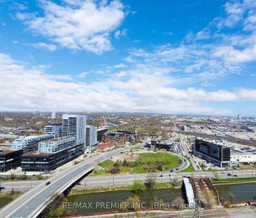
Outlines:
[[125,18],[120,1],[63,1],[61,5],[42,0],[43,16],[17,13],[28,29],[71,50],[101,54],[111,49],[110,32]]

